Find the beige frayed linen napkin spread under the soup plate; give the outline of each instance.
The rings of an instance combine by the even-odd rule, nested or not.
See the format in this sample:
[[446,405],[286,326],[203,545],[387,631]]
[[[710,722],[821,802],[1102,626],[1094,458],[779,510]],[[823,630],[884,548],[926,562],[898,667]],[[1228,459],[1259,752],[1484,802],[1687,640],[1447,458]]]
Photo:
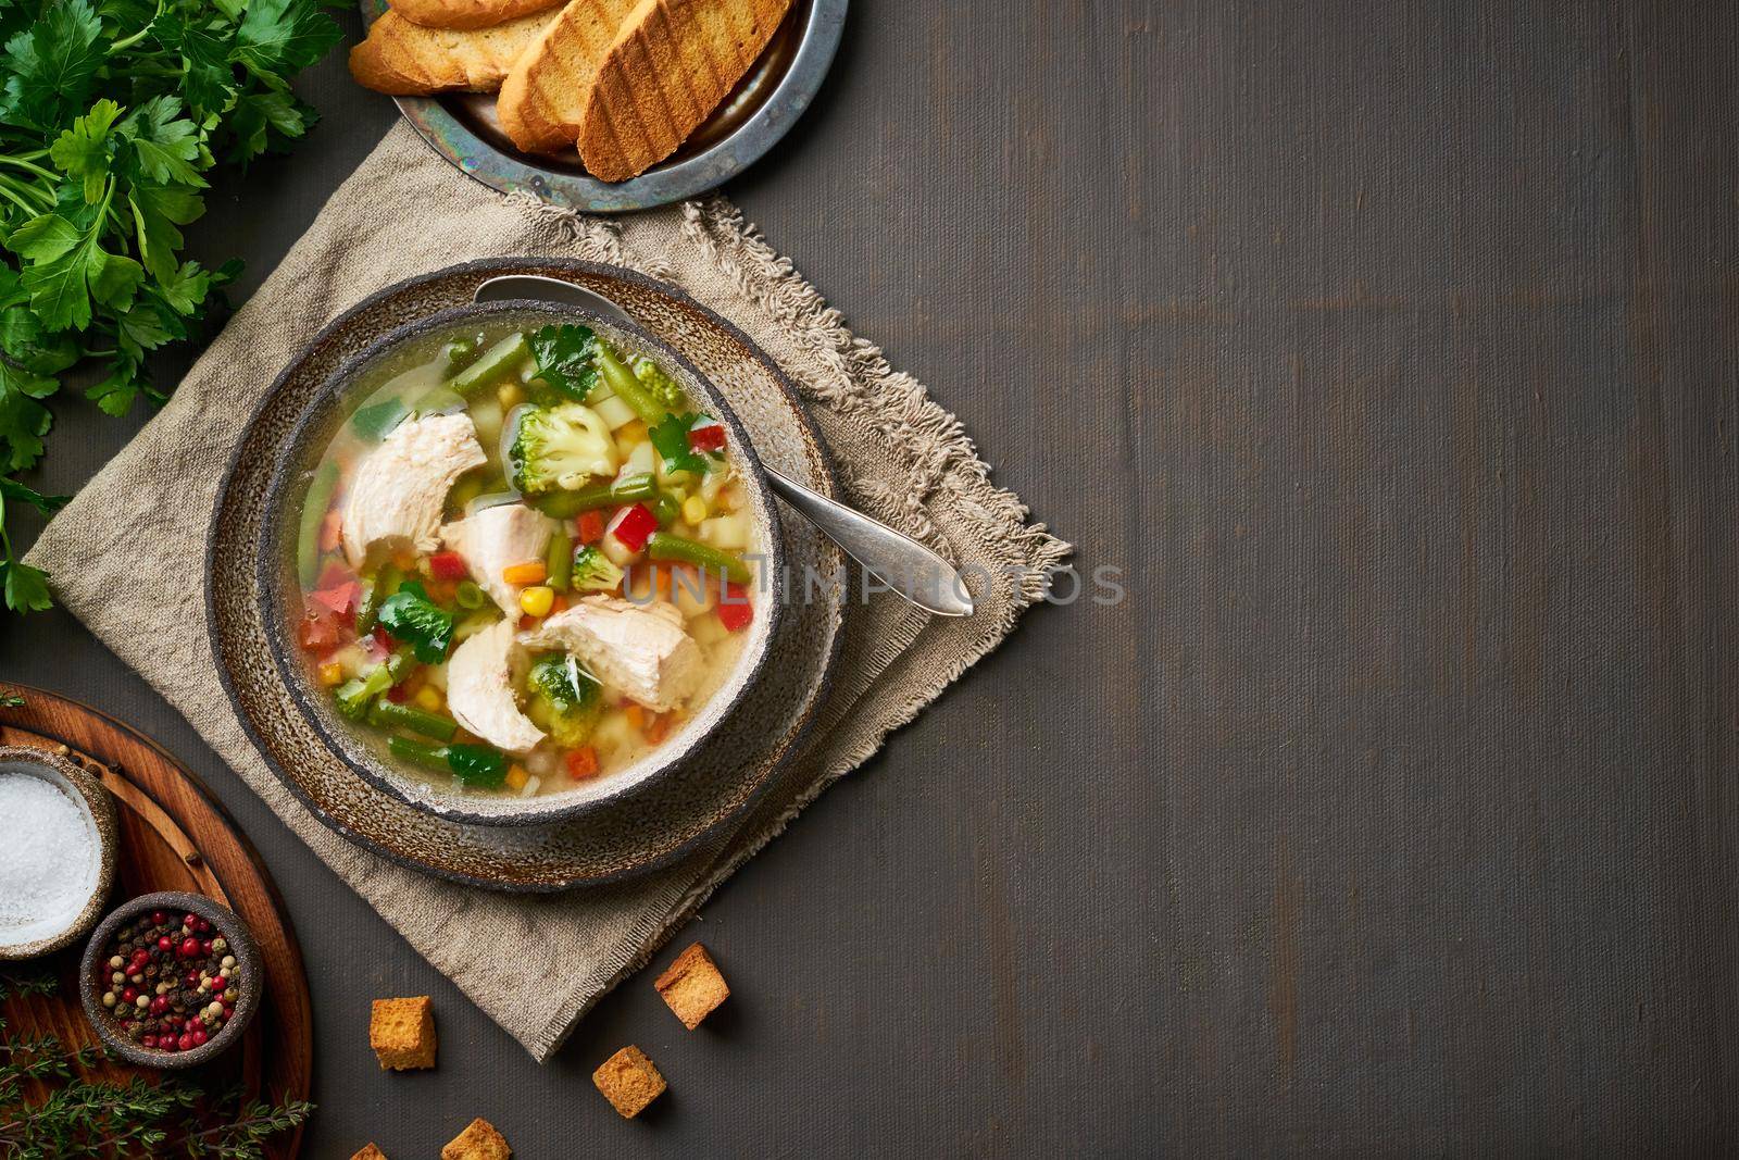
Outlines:
[[[991,577],[967,621],[929,619],[889,597],[854,607],[816,729],[753,810],[675,866],[551,897],[424,877],[320,824],[247,741],[212,670],[203,591],[184,584],[203,570],[205,527],[242,424],[301,346],[381,287],[497,256],[616,263],[683,287],[746,330],[798,384],[849,501]],[[160,546],[163,567],[139,569],[132,551],[111,551],[141,543]],[[30,562],[49,570],[57,598],[184,713],[285,824],[544,1059],[828,783],[989,652],[1043,595],[1043,569],[1066,551],[989,483],[960,423],[845,330],[838,311],[727,200],[614,221],[558,212],[463,177],[400,123],[162,414],[49,523]]]

